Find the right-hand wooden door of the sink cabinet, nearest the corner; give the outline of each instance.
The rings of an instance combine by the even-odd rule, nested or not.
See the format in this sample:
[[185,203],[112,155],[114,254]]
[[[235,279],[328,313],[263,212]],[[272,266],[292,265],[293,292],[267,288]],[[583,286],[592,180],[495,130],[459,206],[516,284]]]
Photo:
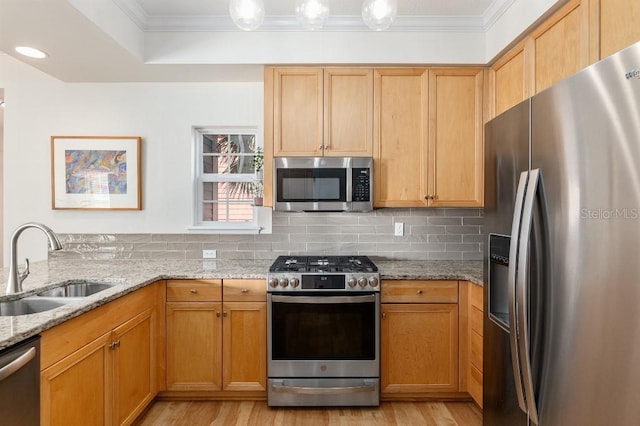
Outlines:
[[155,310],[147,309],[113,331],[114,418],[131,424],[156,393]]

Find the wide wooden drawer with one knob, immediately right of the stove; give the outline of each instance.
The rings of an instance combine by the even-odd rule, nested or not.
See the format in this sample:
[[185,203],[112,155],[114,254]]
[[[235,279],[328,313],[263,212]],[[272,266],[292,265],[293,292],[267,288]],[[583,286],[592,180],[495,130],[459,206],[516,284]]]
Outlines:
[[384,280],[382,303],[458,303],[458,281]]

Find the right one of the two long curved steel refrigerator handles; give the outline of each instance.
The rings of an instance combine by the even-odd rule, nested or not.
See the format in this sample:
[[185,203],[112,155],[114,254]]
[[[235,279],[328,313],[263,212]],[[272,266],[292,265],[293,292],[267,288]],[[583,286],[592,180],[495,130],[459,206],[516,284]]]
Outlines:
[[527,195],[524,200],[522,209],[522,224],[520,226],[520,237],[518,248],[518,276],[516,293],[517,301],[517,319],[518,319],[518,345],[520,353],[520,366],[522,369],[522,381],[524,383],[525,398],[527,401],[527,410],[525,411],[531,422],[538,424],[538,409],[533,391],[533,379],[531,374],[531,357],[529,356],[529,315],[528,315],[528,294],[527,294],[527,278],[529,271],[529,247],[531,224],[533,222],[533,207],[538,193],[538,184],[540,182],[540,169],[533,169],[529,172],[529,184],[527,186]]

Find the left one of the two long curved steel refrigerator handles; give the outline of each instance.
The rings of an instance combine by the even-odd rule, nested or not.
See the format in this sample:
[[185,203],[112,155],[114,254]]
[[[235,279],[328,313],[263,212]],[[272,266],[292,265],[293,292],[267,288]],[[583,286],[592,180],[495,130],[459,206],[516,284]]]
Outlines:
[[515,380],[516,395],[520,409],[527,412],[527,403],[522,383],[522,372],[520,368],[520,347],[518,346],[518,323],[516,321],[517,297],[516,297],[516,273],[518,269],[518,247],[520,238],[520,222],[522,218],[522,207],[527,189],[528,172],[520,173],[518,189],[516,191],[515,206],[513,209],[513,222],[511,224],[511,245],[509,246],[509,270],[507,273],[509,288],[509,343],[511,346],[511,365],[513,367],[513,379]]

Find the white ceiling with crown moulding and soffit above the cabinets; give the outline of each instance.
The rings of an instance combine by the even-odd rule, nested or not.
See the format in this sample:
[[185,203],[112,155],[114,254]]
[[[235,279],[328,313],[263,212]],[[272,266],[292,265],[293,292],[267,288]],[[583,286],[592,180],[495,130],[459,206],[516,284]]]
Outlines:
[[[65,82],[262,81],[264,64],[484,64],[486,31],[518,1],[530,2],[398,0],[391,28],[375,32],[361,0],[330,0],[319,31],[300,28],[295,0],[264,0],[264,24],[246,32],[227,0],[0,0],[0,51]],[[17,45],[49,57],[20,57]]]

